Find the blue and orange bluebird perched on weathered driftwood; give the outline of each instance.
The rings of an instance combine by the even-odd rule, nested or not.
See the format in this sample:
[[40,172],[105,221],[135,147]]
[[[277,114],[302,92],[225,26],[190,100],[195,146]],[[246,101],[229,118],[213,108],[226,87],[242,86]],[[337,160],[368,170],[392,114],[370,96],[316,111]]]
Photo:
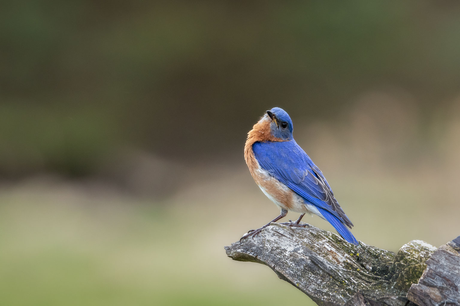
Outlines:
[[321,170],[295,142],[292,132],[293,124],[288,113],[274,107],[247,133],[244,146],[247,167],[256,184],[281,213],[241,239],[249,236],[254,238],[271,222],[285,217],[288,211],[294,211],[301,213],[299,219],[282,224],[305,227],[306,224],[300,223],[300,220],[305,213],[313,213],[331,223],[346,241],[358,245],[348,229],[353,223],[335,199]]

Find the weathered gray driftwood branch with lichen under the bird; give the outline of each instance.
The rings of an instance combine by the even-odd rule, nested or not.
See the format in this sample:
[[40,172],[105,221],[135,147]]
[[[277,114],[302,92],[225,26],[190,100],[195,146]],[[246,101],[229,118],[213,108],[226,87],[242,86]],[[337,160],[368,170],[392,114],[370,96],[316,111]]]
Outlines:
[[460,306],[460,236],[439,248],[413,240],[395,254],[311,225],[272,223],[225,250],[269,266],[318,305]]

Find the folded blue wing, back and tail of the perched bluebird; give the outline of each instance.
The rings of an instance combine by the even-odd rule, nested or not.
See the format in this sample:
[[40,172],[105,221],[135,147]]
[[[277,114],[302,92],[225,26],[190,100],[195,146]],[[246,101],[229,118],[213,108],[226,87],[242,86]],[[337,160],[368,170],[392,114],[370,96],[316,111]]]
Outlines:
[[[253,144],[253,151],[260,167],[270,172],[273,177],[305,200],[318,206],[323,217],[342,237],[351,243],[356,242],[356,239],[344,226],[345,224],[351,228],[353,223],[335,199],[326,178],[294,140],[256,142]],[[351,241],[347,239],[347,236],[350,235],[353,237]]]

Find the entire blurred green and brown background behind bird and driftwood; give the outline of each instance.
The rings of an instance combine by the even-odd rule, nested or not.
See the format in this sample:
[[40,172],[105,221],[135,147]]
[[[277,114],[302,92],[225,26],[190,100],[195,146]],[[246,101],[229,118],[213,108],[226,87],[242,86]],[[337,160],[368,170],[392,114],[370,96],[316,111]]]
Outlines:
[[3,3],[1,304],[313,305],[223,249],[278,214],[242,155],[274,106],[357,239],[453,239],[459,34],[447,0]]

